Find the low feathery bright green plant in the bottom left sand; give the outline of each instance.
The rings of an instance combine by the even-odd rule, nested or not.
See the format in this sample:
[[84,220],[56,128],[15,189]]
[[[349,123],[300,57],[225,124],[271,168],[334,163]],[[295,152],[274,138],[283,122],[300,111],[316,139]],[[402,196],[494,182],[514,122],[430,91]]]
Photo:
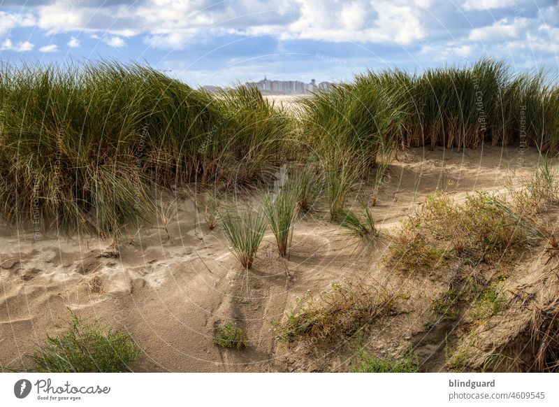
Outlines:
[[131,371],[140,355],[129,334],[113,331],[99,320],[83,322],[72,314],[66,331],[47,336],[29,359],[32,370],[42,373],[113,373]]

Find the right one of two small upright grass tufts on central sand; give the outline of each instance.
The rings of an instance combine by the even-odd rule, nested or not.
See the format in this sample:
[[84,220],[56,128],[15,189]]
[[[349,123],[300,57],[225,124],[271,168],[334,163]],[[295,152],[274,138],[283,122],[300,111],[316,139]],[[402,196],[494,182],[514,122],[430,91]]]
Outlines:
[[285,257],[293,237],[293,223],[297,217],[297,201],[293,193],[282,189],[275,197],[268,195],[264,210],[270,222],[279,255]]

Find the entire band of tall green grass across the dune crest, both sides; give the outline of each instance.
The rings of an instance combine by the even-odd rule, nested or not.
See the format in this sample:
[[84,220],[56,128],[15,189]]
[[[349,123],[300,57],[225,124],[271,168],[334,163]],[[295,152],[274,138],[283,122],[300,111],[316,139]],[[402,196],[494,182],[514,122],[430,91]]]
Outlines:
[[255,88],[211,94],[149,66],[3,64],[0,215],[41,231],[112,234],[150,220],[154,188],[254,185],[309,162],[305,176],[324,180],[334,220],[363,176],[379,185],[401,146],[555,152],[559,90],[549,83],[491,59],[368,71],[303,99],[292,117]]

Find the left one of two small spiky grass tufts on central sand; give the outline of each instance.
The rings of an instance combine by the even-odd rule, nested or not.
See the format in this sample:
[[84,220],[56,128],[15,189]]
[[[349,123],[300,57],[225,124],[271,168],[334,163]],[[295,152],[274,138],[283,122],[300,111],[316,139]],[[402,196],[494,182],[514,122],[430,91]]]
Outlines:
[[266,215],[263,210],[226,208],[220,212],[220,222],[231,244],[231,251],[241,266],[250,269],[266,231]]

